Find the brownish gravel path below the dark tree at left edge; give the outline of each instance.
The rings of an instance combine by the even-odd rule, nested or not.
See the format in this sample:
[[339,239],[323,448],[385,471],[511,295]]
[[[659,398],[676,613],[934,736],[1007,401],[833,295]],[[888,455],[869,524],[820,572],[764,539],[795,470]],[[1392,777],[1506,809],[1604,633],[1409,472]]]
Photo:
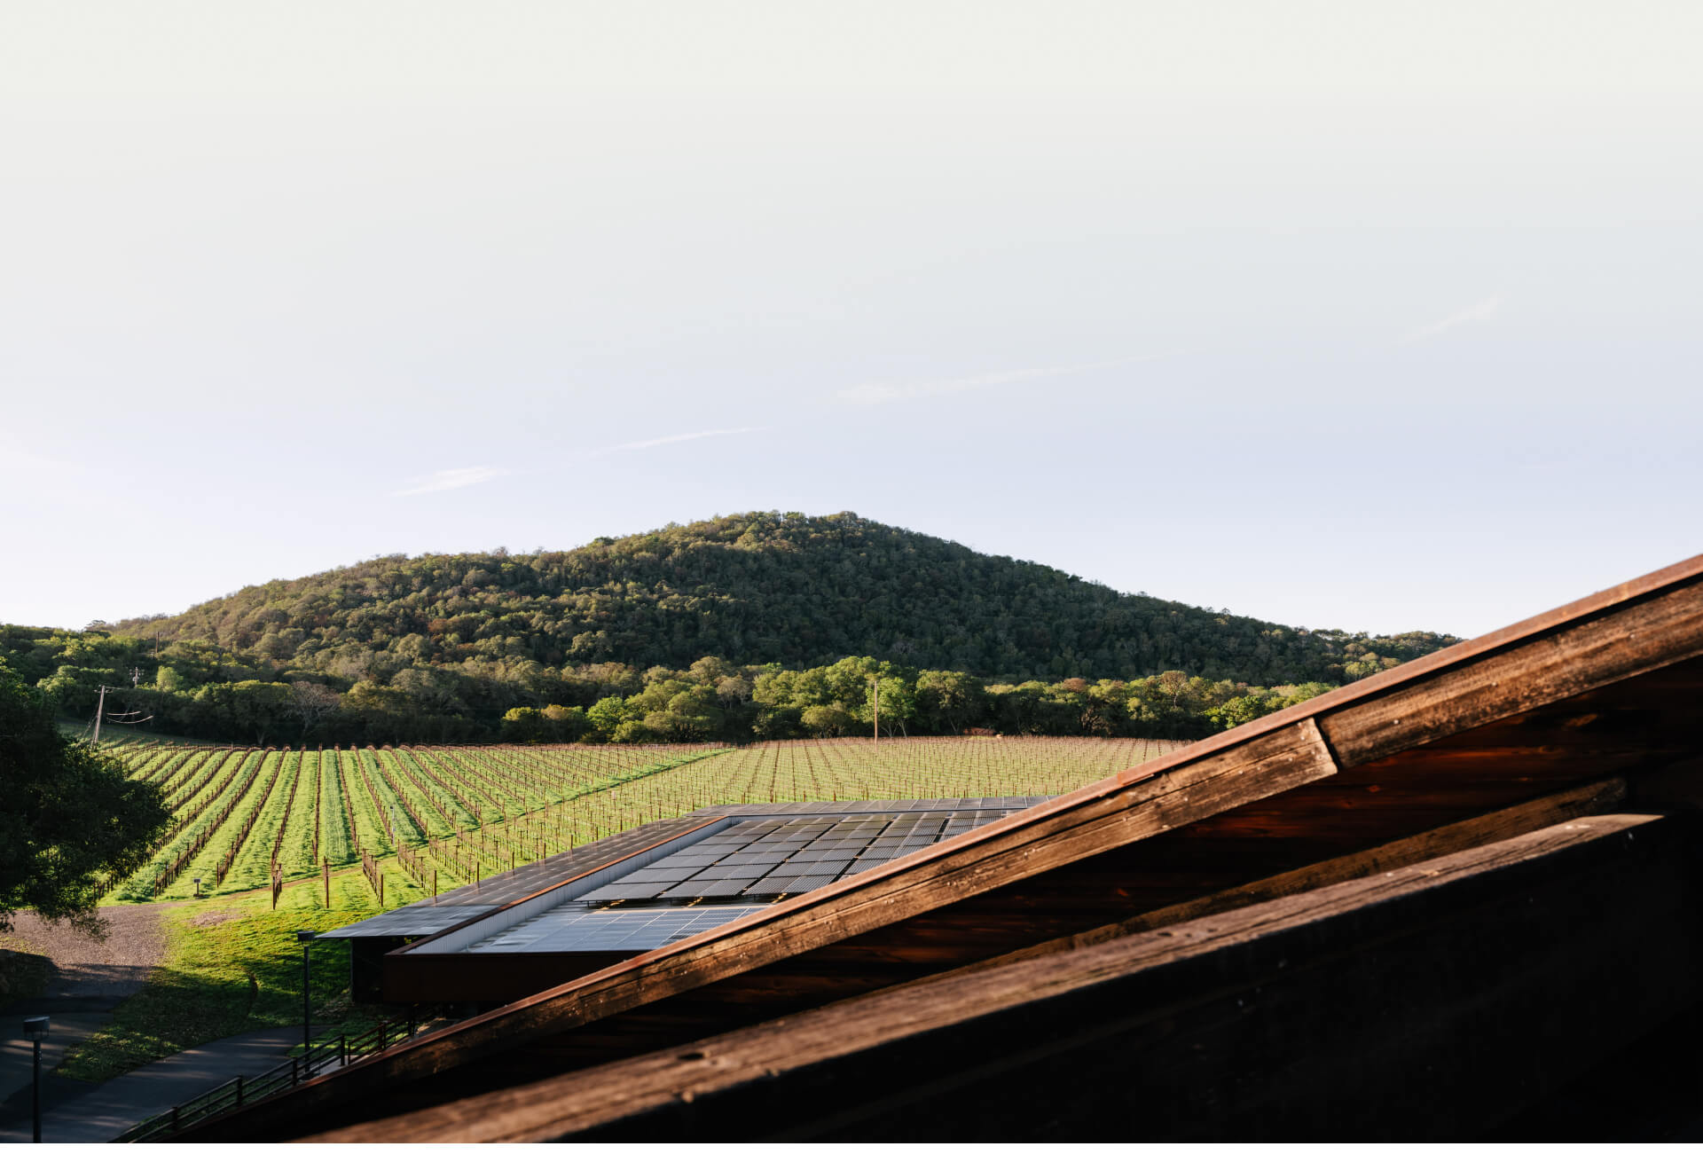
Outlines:
[[95,941],[61,923],[44,923],[32,912],[14,916],[14,931],[0,934],[27,941],[53,962],[53,977],[41,997],[12,1003],[7,1014],[60,1014],[112,1009],[148,980],[165,958],[165,931],[158,905],[109,905],[100,911],[106,938]]

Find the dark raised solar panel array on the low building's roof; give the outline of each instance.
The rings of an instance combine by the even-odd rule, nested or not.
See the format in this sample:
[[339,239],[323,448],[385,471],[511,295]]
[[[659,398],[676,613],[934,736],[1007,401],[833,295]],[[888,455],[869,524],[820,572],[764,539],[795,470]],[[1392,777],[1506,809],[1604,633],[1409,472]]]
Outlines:
[[603,885],[586,904],[780,900],[1005,817],[1006,808],[744,819]]

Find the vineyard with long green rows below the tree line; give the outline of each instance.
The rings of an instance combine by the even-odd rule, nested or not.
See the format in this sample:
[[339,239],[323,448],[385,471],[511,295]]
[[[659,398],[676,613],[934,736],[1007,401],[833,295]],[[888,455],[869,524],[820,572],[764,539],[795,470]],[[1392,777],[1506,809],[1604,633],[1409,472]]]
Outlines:
[[911,737],[756,746],[244,749],[123,742],[172,826],[118,900],[182,899],[359,866],[402,904],[705,805],[1066,793],[1180,742]]

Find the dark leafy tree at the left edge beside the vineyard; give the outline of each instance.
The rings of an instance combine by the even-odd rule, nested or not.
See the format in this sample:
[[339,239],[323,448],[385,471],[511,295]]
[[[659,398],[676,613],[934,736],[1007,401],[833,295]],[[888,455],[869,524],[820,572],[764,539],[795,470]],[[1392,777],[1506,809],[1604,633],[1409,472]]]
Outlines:
[[157,786],[66,740],[46,694],[0,666],[0,929],[34,909],[92,931],[97,875],[140,868],[169,819]]

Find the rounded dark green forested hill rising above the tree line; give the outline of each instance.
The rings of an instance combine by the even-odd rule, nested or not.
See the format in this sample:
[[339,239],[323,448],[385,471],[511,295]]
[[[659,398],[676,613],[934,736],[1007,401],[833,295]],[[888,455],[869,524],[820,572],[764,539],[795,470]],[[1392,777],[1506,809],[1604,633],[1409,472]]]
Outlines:
[[565,553],[383,557],[114,630],[341,677],[518,659],[799,669],[870,655],[1013,681],[1180,669],[1267,686],[1342,683],[1454,640],[1306,631],[1121,594],[852,512],[753,512]]

